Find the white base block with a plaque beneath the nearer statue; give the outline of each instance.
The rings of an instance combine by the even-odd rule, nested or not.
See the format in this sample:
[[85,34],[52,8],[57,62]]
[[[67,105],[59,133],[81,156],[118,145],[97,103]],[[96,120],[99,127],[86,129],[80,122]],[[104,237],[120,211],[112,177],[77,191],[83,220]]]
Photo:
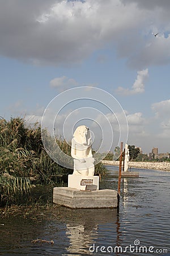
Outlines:
[[99,176],[84,176],[70,174],[68,187],[80,190],[99,190]]

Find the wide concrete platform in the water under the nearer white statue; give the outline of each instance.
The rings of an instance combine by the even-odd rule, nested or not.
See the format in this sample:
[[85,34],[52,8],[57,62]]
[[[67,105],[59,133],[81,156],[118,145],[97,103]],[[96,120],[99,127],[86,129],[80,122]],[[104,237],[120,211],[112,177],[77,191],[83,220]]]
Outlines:
[[117,208],[117,191],[101,189],[96,191],[80,191],[76,188],[55,187],[53,203],[69,208]]

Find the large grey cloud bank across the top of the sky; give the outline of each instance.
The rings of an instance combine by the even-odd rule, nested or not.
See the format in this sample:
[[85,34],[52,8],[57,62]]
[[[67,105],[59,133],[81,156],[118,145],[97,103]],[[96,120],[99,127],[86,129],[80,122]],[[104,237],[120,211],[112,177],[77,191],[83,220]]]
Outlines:
[[0,54],[73,65],[112,46],[131,67],[170,63],[169,10],[167,1],[2,1]]

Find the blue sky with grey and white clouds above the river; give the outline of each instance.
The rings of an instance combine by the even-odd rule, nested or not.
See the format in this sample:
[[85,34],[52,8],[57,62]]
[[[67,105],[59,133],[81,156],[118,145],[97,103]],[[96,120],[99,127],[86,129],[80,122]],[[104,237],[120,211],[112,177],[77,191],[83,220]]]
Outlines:
[[[41,122],[47,108],[47,125],[56,108],[55,131],[65,124],[70,139],[72,126],[87,121],[96,141],[104,131],[108,150],[113,135],[122,139],[119,124],[121,134],[127,132],[121,123],[125,114],[128,144],[143,153],[153,147],[170,152],[169,0],[6,0],[0,7],[2,118]],[[79,88],[93,100],[73,101]],[[61,110],[57,102],[66,90]],[[113,104],[105,109],[109,95]]]

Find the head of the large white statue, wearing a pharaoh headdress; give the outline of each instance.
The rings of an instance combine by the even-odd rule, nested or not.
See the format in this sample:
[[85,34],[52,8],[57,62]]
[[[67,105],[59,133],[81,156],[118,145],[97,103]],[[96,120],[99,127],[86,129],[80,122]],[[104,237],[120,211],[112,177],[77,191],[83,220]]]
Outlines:
[[90,144],[91,143],[91,134],[88,127],[85,125],[80,125],[75,129],[73,134],[75,141],[82,144]]

